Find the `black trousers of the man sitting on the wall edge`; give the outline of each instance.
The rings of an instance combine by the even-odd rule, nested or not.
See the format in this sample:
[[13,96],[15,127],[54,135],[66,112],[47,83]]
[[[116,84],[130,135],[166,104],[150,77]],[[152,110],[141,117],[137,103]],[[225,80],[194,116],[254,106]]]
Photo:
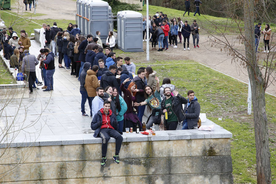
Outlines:
[[117,132],[114,129],[111,128],[102,128],[99,132],[99,136],[102,138],[102,156],[106,156],[106,151],[107,151],[107,143],[110,139],[110,137],[113,137],[116,139],[116,147],[115,151],[116,153],[120,152],[121,145],[123,142],[123,137],[119,132]]

